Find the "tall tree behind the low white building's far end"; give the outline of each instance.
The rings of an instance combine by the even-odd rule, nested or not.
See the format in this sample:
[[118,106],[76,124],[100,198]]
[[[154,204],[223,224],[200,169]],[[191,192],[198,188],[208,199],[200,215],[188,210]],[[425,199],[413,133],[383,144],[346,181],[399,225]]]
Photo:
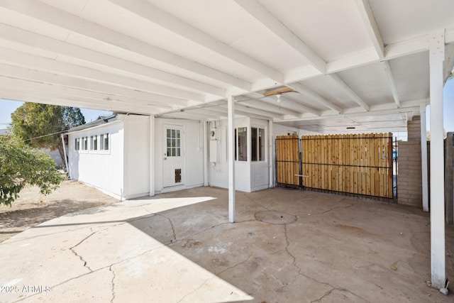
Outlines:
[[25,103],[11,114],[14,136],[35,148],[57,149],[65,163],[60,133],[85,123],[80,109],[38,103]]

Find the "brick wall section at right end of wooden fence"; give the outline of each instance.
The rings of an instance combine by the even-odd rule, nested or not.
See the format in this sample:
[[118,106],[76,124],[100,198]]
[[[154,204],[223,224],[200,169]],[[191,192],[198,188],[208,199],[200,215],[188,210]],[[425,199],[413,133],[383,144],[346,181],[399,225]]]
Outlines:
[[399,142],[397,203],[422,206],[421,117],[407,122],[408,141]]

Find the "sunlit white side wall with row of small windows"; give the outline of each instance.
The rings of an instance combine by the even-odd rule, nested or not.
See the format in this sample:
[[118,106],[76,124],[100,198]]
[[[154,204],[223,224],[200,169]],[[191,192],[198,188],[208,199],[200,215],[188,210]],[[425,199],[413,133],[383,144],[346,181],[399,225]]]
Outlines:
[[[109,133],[109,150],[74,150],[74,138]],[[123,197],[123,122],[115,121],[103,126],[68,134],[68,166],[70,178],[92,185],[117,199]]]

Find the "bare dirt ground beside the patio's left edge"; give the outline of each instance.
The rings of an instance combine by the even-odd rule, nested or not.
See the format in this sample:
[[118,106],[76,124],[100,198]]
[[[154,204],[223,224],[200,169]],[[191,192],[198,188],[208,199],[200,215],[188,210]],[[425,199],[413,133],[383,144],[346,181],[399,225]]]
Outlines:
[[117,199],[81,182],[65,180],[45,196],[38,187],[26,187],[10,206],[0,206],[0,243],[31,226],[74,211],[113,204]]

